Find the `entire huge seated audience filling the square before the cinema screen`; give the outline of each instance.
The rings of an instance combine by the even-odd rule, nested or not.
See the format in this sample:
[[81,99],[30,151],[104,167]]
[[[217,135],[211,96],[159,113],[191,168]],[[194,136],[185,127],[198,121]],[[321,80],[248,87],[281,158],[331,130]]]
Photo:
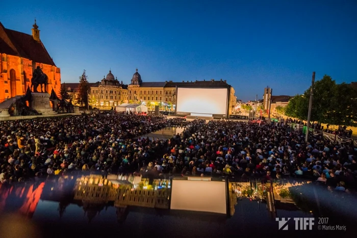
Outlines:
[[[145,134],[184,126],[169,140]],[[186,121],[164,116],[85,115],[0,122],[0,180],[11,184],[64,174],[140,173],[144,177],[302,177],[354,188],[356,149],[286,123]]]

